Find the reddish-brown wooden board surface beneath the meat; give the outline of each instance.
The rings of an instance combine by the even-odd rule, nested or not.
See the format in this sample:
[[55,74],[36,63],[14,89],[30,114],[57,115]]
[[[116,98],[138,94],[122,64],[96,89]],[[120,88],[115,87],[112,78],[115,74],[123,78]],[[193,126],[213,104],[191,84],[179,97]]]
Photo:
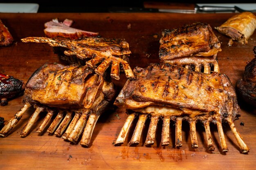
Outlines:
[[[163,29],[172,29],[193,22],[207,22],[211,25],[221,42],[222,51],[218,53],[220,72],[225,73],[233,85],[243,76],[247,61],[254,58],[252,49],[256,46],[256,33],[247,45],[237,42],[227,46],[228,37],[218,33],[214,27],[220,26],[234,13],[223,14],[178,14],[178,13],[0,13],[0,19],[9,28],[15,43],[0,48],[0,72],[27,81],[31,74],[46,62],[61,63],[47,44],[22,43],[20,39],[31,36],[45,36],[44,23],[58,18],[74,21],[72,27],[98,32],[101,37],[125,39],[130,44],[130,65],[146,67],[159,62],[159,39]],[[126,82],[124,73],[119,81],[113,81],[118,90]],[[12,133],[0,138],[0,169],[238,169],[256,168],[256,111],[240,99],[241,117],[235,125],[245,143],[249,146],[248,154],[241,154],[236,139],[229,126],[223,124],[229,152],[222,153],[216,125],[211,124],[215,151],[207,150],[207,141],[202,124],[198,123],[197,149],[191,148],[189,125],[182,127],[183,146],[174,148],[175,124],[171,122],[171,144],[159,146],[161,127],[153,146],[145,147],[147,121],[141,141],[137,146],[129,146],[132,129],[126,142],[114,146],[127,115],[122,109],[106,111],[98,120],[92,134],[90,147],[72,144],[47,132],[37,133],[36,129],[44,115],[40,114],[29,135],[20,137],[34,109],[30,108],[22,117]],[[22,107],[22,96],[0,107],[0,117],[7,123]],[[118,118],[116,115],[118,114]],[[244,122],[244,126],[240,125]],[[136,123],[136,122],[135,122]],[[134,128],[134,125],[133,125]]]

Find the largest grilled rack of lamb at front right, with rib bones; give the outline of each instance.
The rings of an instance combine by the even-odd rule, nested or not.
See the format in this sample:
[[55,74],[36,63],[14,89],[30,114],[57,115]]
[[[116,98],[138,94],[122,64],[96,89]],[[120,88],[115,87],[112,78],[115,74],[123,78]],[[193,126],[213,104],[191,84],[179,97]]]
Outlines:
[[234,120],[240,116],[240,107],[234,87],[225,74],[205,74],[168,63],[136,67],[134,73],[135,80],[126,82],[114,102],[128,113],[115,141],[116,146],[124,143],[133,120],[138,116],[129,144],[139,144],[144,123],[150,117],[146,146],[154,144],[157,123],[162,118],[162,146],[170,143],[170,120],[176,121],[175,146],[182,146],[182,120],[186,120],[190,124],[192,148],[198,148],[195,124],[202,122],[208,149],[214,150],[210,131],[210,123],[213,122],[218,127],[222,151],[227,152],[222,122],[228,122],[241,152],[249,152],[234,126]]

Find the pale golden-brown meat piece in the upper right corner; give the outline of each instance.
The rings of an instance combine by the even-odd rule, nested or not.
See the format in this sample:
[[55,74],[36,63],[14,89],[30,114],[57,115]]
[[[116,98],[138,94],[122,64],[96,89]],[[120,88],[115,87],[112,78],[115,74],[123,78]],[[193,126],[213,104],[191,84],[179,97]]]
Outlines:
[[229,46],[232,46],[233,40],[241,44],[247,44],[249,37],[256,29],[256,16],[251,12],[243,12],[230,17],[221,26],[216,29],[223,35],[227,35]]

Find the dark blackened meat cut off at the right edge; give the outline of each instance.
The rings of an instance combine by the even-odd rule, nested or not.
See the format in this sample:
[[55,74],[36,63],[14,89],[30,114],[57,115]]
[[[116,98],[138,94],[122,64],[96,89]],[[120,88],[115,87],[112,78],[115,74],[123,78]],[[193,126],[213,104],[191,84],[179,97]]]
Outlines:
[[[256,57],[256,46],[254,46]],[[238,95],[249,105],[256,107],[256,58],[245,66],[243,78],[236,82]]]

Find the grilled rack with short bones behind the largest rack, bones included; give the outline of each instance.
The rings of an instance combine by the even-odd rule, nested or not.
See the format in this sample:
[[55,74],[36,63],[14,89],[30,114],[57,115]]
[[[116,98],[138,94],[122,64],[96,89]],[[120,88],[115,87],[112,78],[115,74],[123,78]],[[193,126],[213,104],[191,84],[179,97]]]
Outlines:
[[196,22],[162,31],[159,58],[165,63],[211,73],[219,72],[216,57],[220,51],[220,41],[211,26]]

